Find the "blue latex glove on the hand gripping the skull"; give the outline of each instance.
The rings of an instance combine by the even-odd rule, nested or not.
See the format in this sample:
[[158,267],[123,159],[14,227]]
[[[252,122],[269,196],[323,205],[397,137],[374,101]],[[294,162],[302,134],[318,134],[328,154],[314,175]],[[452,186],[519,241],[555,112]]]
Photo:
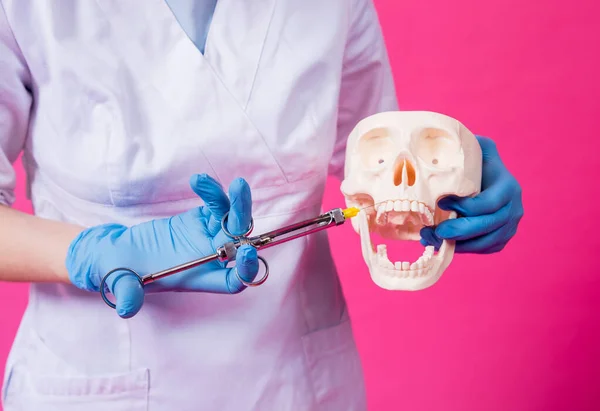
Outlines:
[[481,193],[472,198],[449,196],[438,206],[459,218],[421,230],[421,244],[436,249],[442,240],[455,240],[457,253],[490,254],[502,250],[516,234],[523,217],[521,186],[506,169],[496,144],[477,136],[483,154]]

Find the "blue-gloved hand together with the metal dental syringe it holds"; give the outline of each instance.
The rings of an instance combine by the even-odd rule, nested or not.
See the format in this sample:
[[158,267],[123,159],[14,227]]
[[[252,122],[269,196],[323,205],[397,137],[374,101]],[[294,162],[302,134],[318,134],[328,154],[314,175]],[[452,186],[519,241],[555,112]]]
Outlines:
[[[235,180],[229,196],[207,175],[192,177],[190,185],[203,206],[133,227],[105,224],[79,234],[67,255],[71,282],[80,289],[99,291],[106,304],[124,318],[141,309],[147,293],[235,294],[263,284],[269,276],[269,265],[257,250],[343,224],[359,212],[336,208],[248,237],[254,224],[246,181]],[[232,261],[235,267],[227,267]],[[259,261],[265,271],[255,280]],[[114,295],[114,303],[108,292]]]

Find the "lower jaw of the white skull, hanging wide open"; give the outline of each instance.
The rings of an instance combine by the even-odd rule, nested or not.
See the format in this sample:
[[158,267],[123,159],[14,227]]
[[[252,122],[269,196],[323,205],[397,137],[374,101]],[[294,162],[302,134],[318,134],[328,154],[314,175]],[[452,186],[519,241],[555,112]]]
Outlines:
[[[450,212],[448,218],[456,218],[455,212]],[[455,242],[444,240],[439,252],[429,258],[426,268],[413,270],[398,270],[391,263],[382,263],[378,254],[373,250],[368,219],[364,211],[356,218],[358,233],[361,238],[363,259],[369,268],[372,281],[380,288],[390,291],[420,291],[431,287],[441,278],[454,257]]]

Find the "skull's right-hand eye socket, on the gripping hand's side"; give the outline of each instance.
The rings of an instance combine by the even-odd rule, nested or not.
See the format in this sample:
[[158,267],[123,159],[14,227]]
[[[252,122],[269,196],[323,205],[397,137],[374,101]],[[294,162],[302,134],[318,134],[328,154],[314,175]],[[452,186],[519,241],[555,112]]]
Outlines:
[[426,165],[445,169],[458,164],[461,158],[460,140],[437,128],[421,130],[413,139],[413,153]]

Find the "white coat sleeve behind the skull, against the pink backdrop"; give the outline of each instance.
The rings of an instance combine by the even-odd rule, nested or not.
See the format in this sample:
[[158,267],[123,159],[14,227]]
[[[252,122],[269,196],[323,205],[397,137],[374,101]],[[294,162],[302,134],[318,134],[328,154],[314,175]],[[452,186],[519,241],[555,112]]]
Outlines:
[[342,180],[346,141],[365,117],[398,109],[394,78],[372,0],[354,0],[343,63],[337,136],[329,174]]

